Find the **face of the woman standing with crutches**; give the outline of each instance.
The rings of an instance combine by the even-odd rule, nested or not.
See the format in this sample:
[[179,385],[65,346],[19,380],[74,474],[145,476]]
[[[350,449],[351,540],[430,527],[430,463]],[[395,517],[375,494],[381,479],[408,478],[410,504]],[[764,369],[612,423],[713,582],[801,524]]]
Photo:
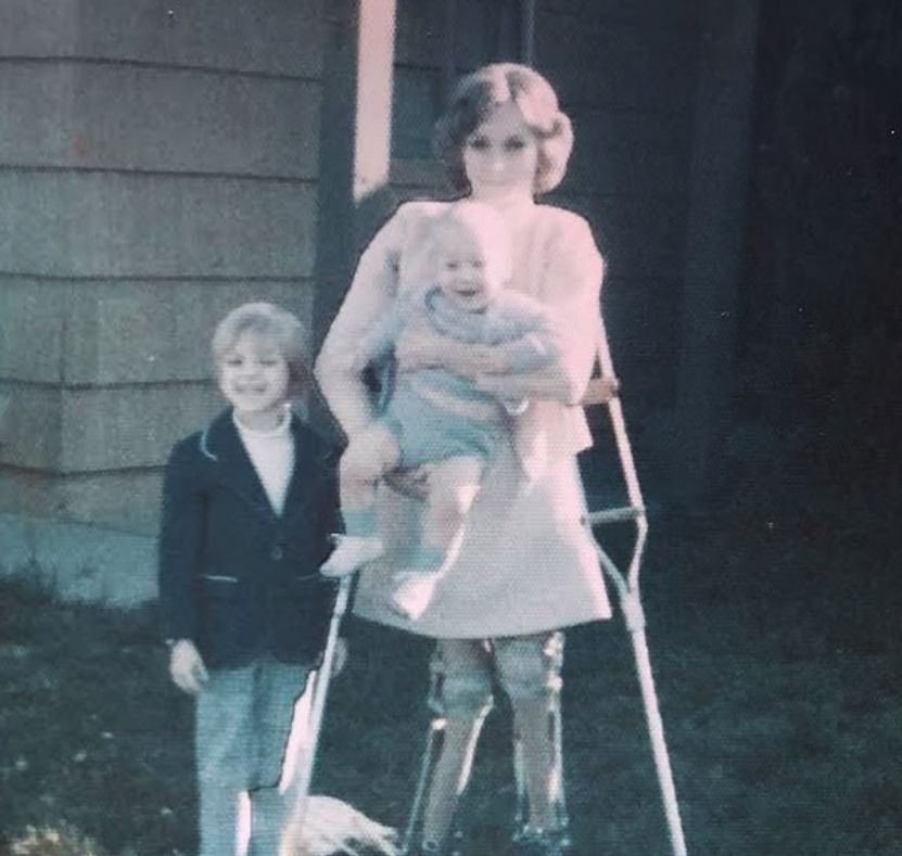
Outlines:
[[463,169],[473,199],[532,196],[538,145],[513,101],[498,104],[463,141]]

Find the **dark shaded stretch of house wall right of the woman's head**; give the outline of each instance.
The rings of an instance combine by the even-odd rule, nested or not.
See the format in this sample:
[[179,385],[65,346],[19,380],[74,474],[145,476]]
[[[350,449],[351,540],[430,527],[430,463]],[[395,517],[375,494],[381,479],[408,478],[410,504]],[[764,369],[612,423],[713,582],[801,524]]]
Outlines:
[[573,122],[555,201],[592,223],[602,307],[631,414],[676,386],[698,24],[695,3],[544,0],[536,58]]

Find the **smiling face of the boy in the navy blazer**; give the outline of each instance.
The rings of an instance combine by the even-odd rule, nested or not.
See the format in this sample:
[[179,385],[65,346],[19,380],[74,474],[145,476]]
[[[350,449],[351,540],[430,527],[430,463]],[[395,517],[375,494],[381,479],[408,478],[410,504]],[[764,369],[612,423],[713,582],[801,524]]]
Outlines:
[[289,369],[277,344],[254,331],[242,333],[219,360],[219,389],[239,420],[274,429],[288,401]]

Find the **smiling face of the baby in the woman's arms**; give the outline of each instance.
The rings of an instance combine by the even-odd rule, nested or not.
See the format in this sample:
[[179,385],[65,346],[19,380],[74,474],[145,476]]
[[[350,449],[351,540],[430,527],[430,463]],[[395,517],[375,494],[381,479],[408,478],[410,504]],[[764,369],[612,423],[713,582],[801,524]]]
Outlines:
[[504,265],[497,255],[468,228],[445,223],[436,252],[443,294],[465,311],[483,311],[504,288]]

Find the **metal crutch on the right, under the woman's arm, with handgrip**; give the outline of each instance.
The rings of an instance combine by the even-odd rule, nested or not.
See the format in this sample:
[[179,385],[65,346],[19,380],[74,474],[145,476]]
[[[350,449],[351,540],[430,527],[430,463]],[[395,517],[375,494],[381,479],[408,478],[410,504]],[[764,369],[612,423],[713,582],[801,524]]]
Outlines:
[[620,608],[626,622],[626,629],[630,631],[630,637],[633,641],[636,673],[639,679],[639,687],[641,688],[645,716],[648,723],[651,750],[655,755],[655,766],[658,772],[658,782],[661,787],[661,796],[664,803],[664,814],[666,815],[673,853],[674,856],[686,856],[686,840],[683,835],[679,806],[676,802],[676,789],[674,788],[668,746],[664,741],[664,726],[658,708],[658,697],[655,692],[655,678],[651,674],[651,661],[649,660],[648,644],[645,636],[645,613],[639,598],[639,565],[648,535],[648,521],[646,519],[645,506],[643,504],[639,482],[636,476],[633,451],[626,435],[623,408],[617,395],[610,396],[606,394],[609,389],[609,384],[613,382],[615,375],[604,323],[601,324],[598,338],[598,365],[600,368],[600,376],[589,382],[589,389],[584,403],[586,405],[602,403],[607,405],[608,416],[610,417],[611,427],[617,442],[620,465],[624,482],[626,483],[626,495],[630,504],[621,508],[589,512],[586,516],[586,525],[592,531],[592,527],[602,523],[633,521],[636,524],[636,540],[625,577],[598,544],[598,540],[594,537],[594,533],[593,540],[598,551],[601,567],[617,589]]

